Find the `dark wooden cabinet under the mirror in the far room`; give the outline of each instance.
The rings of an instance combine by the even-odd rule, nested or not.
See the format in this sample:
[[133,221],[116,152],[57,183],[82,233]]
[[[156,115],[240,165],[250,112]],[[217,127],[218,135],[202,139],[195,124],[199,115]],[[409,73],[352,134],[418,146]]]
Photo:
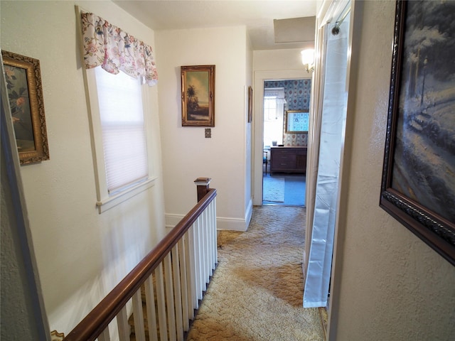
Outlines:
[[306,147],[270,148],[270,173],[306,173]]

